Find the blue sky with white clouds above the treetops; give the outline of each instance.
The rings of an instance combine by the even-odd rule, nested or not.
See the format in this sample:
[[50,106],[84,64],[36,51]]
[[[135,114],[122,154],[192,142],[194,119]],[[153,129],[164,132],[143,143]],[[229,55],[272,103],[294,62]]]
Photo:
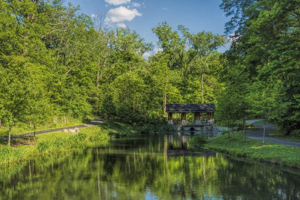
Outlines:
[[[67,1],[67,0],[66,0]],[[158,50],[157,37],[151,28],[159,22],[166,21],[173,30],[179,24],[189,28],[191,32],[211,31],[223,34],[224,24],[228,20],[219,8],[221,0],[68,0],[74,5],[80,5],[80,12],[91,17],[97,13],[105,14],[105,22],[111,28],[117,26],[129,27],[145,39],[152,42]],[[223,52],[229,48],[229,43],[220,47]]]

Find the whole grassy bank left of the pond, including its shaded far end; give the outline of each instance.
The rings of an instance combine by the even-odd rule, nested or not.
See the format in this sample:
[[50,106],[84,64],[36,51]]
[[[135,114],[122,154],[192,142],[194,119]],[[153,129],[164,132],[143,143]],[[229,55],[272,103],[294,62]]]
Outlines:
[[105,145],[108,138],[121,134],[135,133],[130,126],[122,123],[109,122],[97,126],[80,128],[79,133],[50,132],[36,136],[35,140],[27,138],[12,140],[8,147],[6,141],[0,144],[0,166],[26,162],[31,158],[41,158],[63,154],[89,145]]

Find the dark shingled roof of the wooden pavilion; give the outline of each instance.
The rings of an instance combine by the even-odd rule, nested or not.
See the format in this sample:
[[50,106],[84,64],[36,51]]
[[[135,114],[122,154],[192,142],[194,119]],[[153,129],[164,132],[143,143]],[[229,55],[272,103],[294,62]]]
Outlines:
[[167,112],[214,112],[213,103],[166,104]]

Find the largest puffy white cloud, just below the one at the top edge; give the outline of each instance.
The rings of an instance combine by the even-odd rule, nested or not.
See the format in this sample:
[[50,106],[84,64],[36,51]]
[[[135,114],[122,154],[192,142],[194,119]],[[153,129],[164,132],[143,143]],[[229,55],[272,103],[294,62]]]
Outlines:
[[118,23],[122,21],[131,21],[135,16],[141,16],[141,13],[139,13],[136,9],[128,9],[123,6],[119,6],[108,10],[105,22]]

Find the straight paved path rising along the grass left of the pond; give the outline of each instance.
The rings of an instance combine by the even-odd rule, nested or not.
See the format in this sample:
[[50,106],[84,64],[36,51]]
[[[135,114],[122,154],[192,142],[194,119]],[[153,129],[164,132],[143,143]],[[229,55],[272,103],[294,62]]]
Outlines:
[[[84,123],[84,124],[81,124],[81,125],[72,125],[72,126],[67,126],[67,127],[61,127],[61,128],[52,128],[52,129],[48,129],[48,130],[40,130],[40,131],[36,131],[35,132],[35,135],[37,134],[43,134],[43,133],[48,133],[48,132],[55,132],[55,131],[59,131],[59,130],[63,130],[63,129],[73,129],[75,127],[88,127],[88,126],[94,126],[94,125],[99,125],[99,124],[103,124],[103,119],[92,119],[90,120],[90,122],[88,123]],[[31,136],[33,135],[33,133],[31,132],[30,134]],[[22,134],[15,134],[15,135],[11,135],[11,139],[17,139],[17,138],[22,138],[22,137],[25,137],[25,136],[29,136],[29,132],[26,132],[26,133],[22,133]],[[3,136],[3,137],[0,137],[0,141],[3,141],[3,140],[8,140],[8,136]]]

